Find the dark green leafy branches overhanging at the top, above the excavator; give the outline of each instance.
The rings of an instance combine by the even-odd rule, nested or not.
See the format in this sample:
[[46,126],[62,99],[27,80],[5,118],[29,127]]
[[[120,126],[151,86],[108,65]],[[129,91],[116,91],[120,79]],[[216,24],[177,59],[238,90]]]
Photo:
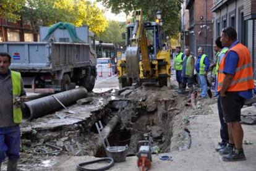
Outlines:
[[161,10],[164,20],[164,31],[166,35],[173,36],[179,31],[179,19],[182,0],[98,0],[103,5],[111,9],[114,13],[130,12],[136,9],[142,9],[145,20],[155,20],[156,12]]

